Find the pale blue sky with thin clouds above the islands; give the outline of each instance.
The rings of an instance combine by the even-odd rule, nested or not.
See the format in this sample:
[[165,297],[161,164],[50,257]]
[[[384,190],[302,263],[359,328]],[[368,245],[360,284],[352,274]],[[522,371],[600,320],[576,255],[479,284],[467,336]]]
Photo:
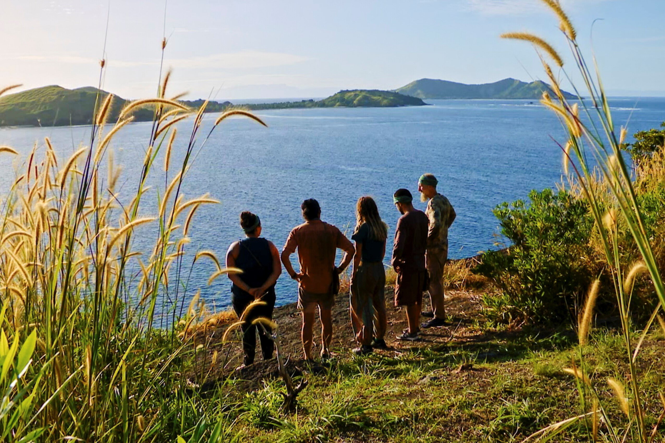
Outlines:
[[[665,95],[664,0],[561,3],[610,94]],[[190,99],[543,79],[533,47],[499,39],[507,31],[545,37],[577,78],[539,0],[0,0],[0,88],[96,86],[104,58],[105,90],[154,96],[164,36],[170,92]]]

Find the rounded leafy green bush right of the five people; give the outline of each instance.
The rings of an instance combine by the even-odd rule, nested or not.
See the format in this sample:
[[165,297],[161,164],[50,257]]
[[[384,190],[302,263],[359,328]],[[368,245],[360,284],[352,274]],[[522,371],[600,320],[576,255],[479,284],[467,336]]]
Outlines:
[[485,252],[474,269],[503,291],[492,310],[511,321],[571,318],[595,277],[587,203],[567,191],[545,189],[531,191],[529,203],[502,203],[493,213],[511,246]]

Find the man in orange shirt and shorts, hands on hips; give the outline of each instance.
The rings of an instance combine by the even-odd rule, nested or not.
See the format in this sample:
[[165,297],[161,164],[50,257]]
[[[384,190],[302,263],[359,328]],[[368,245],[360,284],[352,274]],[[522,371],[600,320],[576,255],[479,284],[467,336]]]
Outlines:
[[[321,320],[321,358],[330,357],[332,340],[332,306],[338,288],[338,275],[350,264],[355,248],[342,232],[321,221],[321,207],[315,199],[301,205],[305,222],[291,230],[282,250],[282,262],[289,276],[298,281],[298,309],[303,311],[303,351],[305,359],[312,360],[312,330],[314,316],[319,308]],[[342,263],[335,266],[334,259],[340,248],[346,252]],[[291,254],[298,250],[300,272],[291,264]]]

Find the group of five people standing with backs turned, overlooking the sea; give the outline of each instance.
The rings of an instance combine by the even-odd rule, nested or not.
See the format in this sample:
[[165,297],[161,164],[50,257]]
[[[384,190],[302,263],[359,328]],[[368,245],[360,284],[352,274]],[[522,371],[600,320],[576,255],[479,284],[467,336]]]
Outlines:
[[[405,308],[408,324],[408,328],[397,336],[400,340],[420,340],[421,326],[446,325],[442,279],[448,260],[448,228],[456,214],[450,201],[436,191],[437,184],[432,174],[424,174],[418,179],[421,199],[428,202],[425,212],[414,208],[408,189],[398,189],[393,195],[393,202],[402,214],[395,230],[391,260],[397,273],[394,304]],[[233,310],[241,316],[254,300],[265,302],[254,306],[245,315],[243,366],[254,361],[257,333],[263,358],[272,358],[273,341],[266,335],[271,331],[257,328],[252,325],[252,320],[257,317],[272,319],[275,283],[281,274],[281,264],[298,282],[298,309],[303,318],[301,338],[306,360],[313,360],[313,327],[317,310],[321,321],[321,359],[328,359],[331,355],[332,306],[339,292],[339,275],[351,263],[350,317],[360,345],[353,351],[365,354],[374,348],[387,349],[383,260],[388,225],[382,221],[376,202],[372,197],[358,199],[356,226],[351,236],[354,243],[338,228],[321,221],[321,207],[315,199],[305,200],[301,209],[305,222],[291,230],[281,254],[272,242],[261,237],[258,215],[247,211],[240,215],[246,238],[233,242],[226,254],[227,267],[243,270],[241,274],[229,274]],[[338,266],[335,264],[337,249],[344,251]],[[291,264],[291,254],[295,252],[299,272]],[[422,312],[425,291],[430,294],[430,312]],[[431,319],[420,325],[420,315]]]

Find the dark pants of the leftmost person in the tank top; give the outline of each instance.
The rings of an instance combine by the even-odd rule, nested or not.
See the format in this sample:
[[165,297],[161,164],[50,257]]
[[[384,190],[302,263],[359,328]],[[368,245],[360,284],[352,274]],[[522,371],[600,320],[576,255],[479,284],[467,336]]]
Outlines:
[[[243,331],[243,351],[245,353],[245,359],[243,363],[245,365],[251,365],[254,363],[254,355],[256,353],[256,333],[259,332],[259,341],[261,341],[261,353],[263,354],[263,359],[268,360],[273,358],[273,350],[275,349],[275,343],[266,335],[263,327],[267,330],[267,333],[271,333],[272,330],[269,326],[263,325],[253,325],[251,322],[258,317],[266,317],[267,319],[273,319],[273,309],[275,308],[275,292],[271,291],[265,294],[261,298],[263,302],[266,302],[267,305],[255,306],[251,311],[247,313],[245,317],[245,323],[241,326]],[[245,308],[254,301],[254,298],[249,296],[249,294],[233,294],[231,296],[231,304],[233,305],[233,310],[237,314],[238,318],[243,315]]]

